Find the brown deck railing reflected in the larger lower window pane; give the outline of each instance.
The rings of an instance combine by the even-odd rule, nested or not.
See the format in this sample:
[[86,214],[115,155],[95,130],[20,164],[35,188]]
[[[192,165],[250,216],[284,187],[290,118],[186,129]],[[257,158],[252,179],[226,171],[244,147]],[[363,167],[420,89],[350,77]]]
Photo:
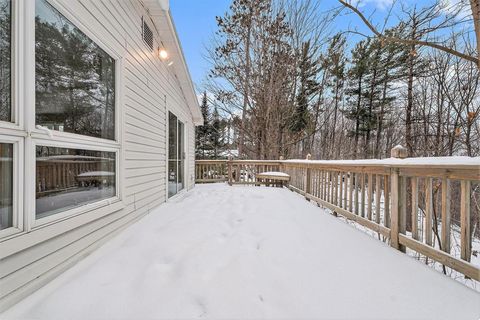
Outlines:
[[115,184],[115,160],[88,156],[53,156],[37,159],[37,197],[79,186]]

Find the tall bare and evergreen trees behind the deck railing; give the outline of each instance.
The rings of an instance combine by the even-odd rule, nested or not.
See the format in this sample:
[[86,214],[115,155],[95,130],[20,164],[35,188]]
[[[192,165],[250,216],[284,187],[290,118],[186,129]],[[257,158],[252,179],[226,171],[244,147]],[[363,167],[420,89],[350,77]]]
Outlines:
[[435,31],[477,56],[474,37],[458,31],[471,12],[435,3],[402,13],[359,38],[334,32],[344,11],[318,1],[234,0],[217,17],[205,84],[231,125],[229,148],[251,159],[384,158],[397,144],[410,156],[479,155],[478,65],[422,45]]

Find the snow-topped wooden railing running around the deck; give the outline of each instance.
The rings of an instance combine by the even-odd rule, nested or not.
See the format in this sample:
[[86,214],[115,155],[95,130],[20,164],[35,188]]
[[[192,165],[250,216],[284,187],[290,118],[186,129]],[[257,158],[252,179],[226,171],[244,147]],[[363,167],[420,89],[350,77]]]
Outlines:
[[[378,232],[393,248],[408,248],[480,281],[480,268],[470,263],[472,212],[478,211],[471,206],[471,192],[480,188],[477,160],[200,160],[196,181],[256,185],[257,173],[288,173],[292,191]],[[455,223],[453,213],[459,217]],[[452,227],[459,229],[459,254],[452,252]]]

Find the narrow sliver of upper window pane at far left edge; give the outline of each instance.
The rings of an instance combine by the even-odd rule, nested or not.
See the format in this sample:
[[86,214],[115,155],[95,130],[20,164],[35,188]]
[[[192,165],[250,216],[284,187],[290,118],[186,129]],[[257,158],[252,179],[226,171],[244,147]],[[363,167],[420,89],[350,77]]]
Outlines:
[[0,120],[11,121],[11,3],[0,0]]

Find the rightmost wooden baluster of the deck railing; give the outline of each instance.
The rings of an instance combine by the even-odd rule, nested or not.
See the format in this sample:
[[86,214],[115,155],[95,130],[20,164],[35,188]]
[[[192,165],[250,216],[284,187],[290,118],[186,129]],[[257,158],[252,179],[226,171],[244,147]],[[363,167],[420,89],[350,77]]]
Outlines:
[[470,232],[470,181],[462,180],[460,195],[460,257],[470,261],[472,235]]

